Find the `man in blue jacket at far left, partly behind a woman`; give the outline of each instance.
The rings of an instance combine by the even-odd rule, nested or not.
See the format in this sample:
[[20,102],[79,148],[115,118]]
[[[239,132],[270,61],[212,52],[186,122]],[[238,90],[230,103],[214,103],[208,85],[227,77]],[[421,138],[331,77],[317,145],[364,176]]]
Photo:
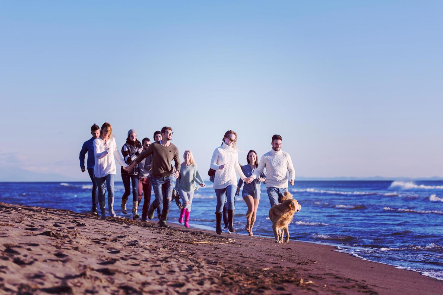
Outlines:
[[[82,146],[82,150],[80,151],[80,168],[82,172],[85,172],[88,169],[89,177],[92,181],[92,214],[97,215],[97,203],[98,203],[98,195],[97,195],[97,184],[94,180],[94,139],[99,138],[100,136],[100,127],[94,124],[91,127],[92,138],[85,141]],[[87,167],[85,168],[85,155],[88,153],[88,161]]]

